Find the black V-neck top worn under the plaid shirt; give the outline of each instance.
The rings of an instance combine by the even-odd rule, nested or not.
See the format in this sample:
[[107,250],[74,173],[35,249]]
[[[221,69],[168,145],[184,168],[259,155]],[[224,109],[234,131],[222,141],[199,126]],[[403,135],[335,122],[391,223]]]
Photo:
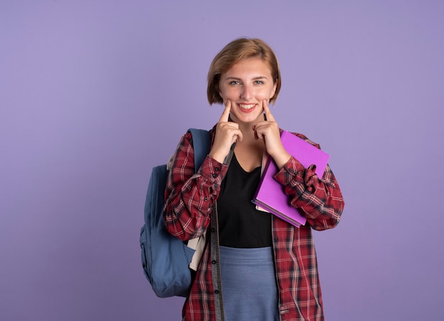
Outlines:
[[217,200],[220,244],[225,247],[272,246],[271,214],[256,210],[251,202],[260,181],[261,168],[245,171],[231,159]]

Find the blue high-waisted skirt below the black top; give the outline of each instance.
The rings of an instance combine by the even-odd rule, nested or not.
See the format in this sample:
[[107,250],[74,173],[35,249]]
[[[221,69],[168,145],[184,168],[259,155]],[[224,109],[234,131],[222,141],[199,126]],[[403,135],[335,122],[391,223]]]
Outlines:
[[272,247],[220,247],[226,321],[279,321]]

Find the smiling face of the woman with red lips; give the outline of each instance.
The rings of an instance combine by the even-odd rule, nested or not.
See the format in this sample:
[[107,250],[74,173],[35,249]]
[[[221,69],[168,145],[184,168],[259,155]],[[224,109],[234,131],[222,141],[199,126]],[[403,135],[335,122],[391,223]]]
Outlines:
[[219,94],[231,101],[231,119],[236,123],[263,120],[262,101],[270,101],[276,91],[270,68],[261,58],[240,60],[221,75]]

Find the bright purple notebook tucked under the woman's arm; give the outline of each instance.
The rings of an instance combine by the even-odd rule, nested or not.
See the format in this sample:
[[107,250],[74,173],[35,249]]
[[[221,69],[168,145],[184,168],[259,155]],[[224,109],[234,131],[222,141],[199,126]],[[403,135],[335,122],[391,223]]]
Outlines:
[[[326,152],[286,130],[281,132],[281,141],[285,150],[299,160],[305,168],[316,164],[315,173],[319,178],[322,178],[329,158]],[[304,225],[306,218],[299,213],[299,210],[290,205],[289,196],[284,193],[284,186],[274,179],[277,171],[278,168],[270,157],[262,171],[262,177],[252,203],[257,205],[258,210],[270,212],[296,227]]]

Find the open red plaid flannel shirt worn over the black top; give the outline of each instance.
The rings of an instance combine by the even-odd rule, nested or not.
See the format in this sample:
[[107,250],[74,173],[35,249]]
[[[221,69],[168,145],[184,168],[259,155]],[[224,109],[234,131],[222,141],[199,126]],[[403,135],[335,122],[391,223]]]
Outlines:
[[[214,138],[216,127],[212,130]],[[296,134],[304,140],[304,135]],[[319,145],[314,144],[316,147]],[[167,181],[164,210],[167,230],[180,240],[199,237],[210,226],[211,212],[220,191],[221,181],[228,167],[207,156],[197,174],[194,174],[192,135],[180,140]],[[290,196],[294,207],[305,213],[307,223],[296,228],[277,217],[272,218],[274,265],[279,288],[280,320],[323,320],[323,304],[319,284],[316,251],[311,229],[326,230],[339,223],[344,201],[338,182],[330,167],[322,179],[313,169],[304,168],[294,157],[276,174],[275,178]],[[214,234],[216,232],[216,234]],[[208,244],[207,244],[208,245]],[[213,247],[214,248],[214,247]],[[217,248],[217,247],[216,247]],[[182,311],[183,320],[223,320],[221,281],[218,261],[206,246],[196,272],[189,296]],[[221,311],[216,311],[216,310]]]

